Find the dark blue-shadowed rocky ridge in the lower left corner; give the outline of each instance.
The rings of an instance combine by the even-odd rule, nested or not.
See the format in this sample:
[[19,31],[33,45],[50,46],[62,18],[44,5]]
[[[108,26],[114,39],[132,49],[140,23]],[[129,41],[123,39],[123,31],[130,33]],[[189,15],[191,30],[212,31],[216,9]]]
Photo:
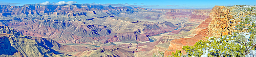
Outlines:
[[[1,56],[62,56],[8,26],[0,26]],[[57,55],[56,55],[57,54]]]

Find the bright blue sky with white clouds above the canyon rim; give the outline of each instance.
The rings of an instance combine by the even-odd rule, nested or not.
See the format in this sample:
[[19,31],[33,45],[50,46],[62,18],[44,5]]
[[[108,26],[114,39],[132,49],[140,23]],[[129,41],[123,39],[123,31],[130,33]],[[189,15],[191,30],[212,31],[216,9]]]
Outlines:
[[[70,0],[62,0],[68,2]],[[232,5],[256,5],[256,0],[73,0],[77,4],[128,4],[137,5],[142,8],[159,8],[159,9],[205,9],[214,6],[232,6]],[[23,6],[25,4],[36,3],[57,3],[60,0],[1,0],[0,4],[10,4],[11,6]]]

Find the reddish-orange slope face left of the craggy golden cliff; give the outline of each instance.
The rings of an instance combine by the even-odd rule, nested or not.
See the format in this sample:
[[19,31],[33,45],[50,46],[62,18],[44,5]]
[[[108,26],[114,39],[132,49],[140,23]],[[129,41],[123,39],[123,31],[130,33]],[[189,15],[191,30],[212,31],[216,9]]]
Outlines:
[[[205,37],[208,37],[208,25],[210,22],[213,20],[212,16],[216,14],[215,10],[218,7],[215,7],[211,10],[209,17],[207,16],[201,16],[201,19],[205,19],[204,22],[202,22],[199,26],[197,26],[192,34],[196,34],[194,37],[191,38],[179,38],[179,39],[174,39],[170,41],[170,45],[168,47],[168,50],[165,50],[164,55],[172,55],[172,52],[175,52],[177,50],[182,50],[183,46],[191,46],[194,45],[197,41],[205,39]],[[190,21],[193,21],[194,17],[191,17]],[[195,18],[196,19],[196,18]],[[182,50],[183,53],[185,53],[184,50]]]

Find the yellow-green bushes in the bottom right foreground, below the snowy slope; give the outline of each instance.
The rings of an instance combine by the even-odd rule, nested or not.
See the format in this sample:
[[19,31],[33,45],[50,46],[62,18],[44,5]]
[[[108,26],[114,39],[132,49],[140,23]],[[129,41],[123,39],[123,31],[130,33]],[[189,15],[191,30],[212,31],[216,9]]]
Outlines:
[[[201,56],[208,51],[207,56],[245,56],[249,50],[254,49],[256,36],[252,33],[245,38],[242,33],[222,36],[221,38],[210,37],[208,40],[200,40],[194,46],[183,46],[187,56]],[[173,53],[177,56],[180,52]],[[181,55],[180,55],[181,56]]]

